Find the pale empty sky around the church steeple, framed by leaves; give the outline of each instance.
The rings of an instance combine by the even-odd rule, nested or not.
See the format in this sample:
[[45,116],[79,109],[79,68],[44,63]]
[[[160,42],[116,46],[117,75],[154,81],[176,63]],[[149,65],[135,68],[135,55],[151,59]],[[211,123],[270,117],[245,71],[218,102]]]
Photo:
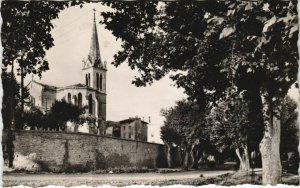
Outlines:
[[[100,53],[102,61],[107,61],[107,120],[119,121],[129,117],[144,117],[149,125],[149,140],[161,142],[160,127],[164,118],[160,115],[162,108],[175,105],[175,101],[185,98],[183,89],[172,86],[174,83],[165,77],[151,86],[140,87],[131,84],[138,72],[131,70],[127,64],[118,68],[111,65],[113,55],[121,48],[121,41],[116,40],[112,33],[104,29],[98,22],[100,12],[110,10],[100,3],[90,3],[62,11],[59,19],[53,20],[52,35],[55,46],[47,52],[50,70],[43,74],[41,80],[35,80],[55,86],[66,86],[84,83],[81,72],[82,60],[87,58],[93,11],[96,9],[96,20]],[[289,94],[298,99],[298,90],[293,88]]]

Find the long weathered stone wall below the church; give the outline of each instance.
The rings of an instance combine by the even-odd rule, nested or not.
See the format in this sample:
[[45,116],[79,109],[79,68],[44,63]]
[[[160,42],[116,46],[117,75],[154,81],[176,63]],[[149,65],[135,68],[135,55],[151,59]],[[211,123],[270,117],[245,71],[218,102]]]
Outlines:
[[[2,144],[6,143],[6,134],[4,131]],[[166,149],[161,144],[86,133],[15,131],[14,151],[35,156],[33,160],[41,171],[166,166]]]

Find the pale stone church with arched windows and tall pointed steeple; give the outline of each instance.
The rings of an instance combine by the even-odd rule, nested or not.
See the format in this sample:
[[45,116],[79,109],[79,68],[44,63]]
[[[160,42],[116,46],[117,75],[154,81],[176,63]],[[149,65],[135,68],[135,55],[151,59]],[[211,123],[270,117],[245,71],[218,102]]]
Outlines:
[[[106,62],[101,60],[94,13],[89,54],[83,60],[82,83],[65,87],[56,87],[32,80],[28,84],[33,106],[44,113],[56,100],[65,100],[79,107],[87,106],[87,114],[94,116],[97,122],[106,121]],[[79,131],[88,132],[88,129]]]

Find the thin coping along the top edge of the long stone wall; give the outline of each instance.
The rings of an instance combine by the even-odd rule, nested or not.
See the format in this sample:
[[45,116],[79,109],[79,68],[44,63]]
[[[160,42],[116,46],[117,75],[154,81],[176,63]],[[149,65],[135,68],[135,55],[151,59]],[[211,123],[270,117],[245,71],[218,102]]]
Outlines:
[[[8,132],[7,129],[3,129],[3,133]],[[83,135],[83,136],[91,136],[91,137],[100,137],[100,138],[110,138],[110,139],[115,139],[115,140],[125,140],[125,141],[130,141],[130,142],[140,142],[140,143],[145,143],[145,144],[153,144],[153,145],[160,145],[164,146],[164,144],[159,144],[159,143],[153,143],[153,142],[145,142],[145,141],[140,141],[140,140],[130,140],[130,139],[124,139],[124,138],[118,138],[118,137],[112,137],[112,136],[105,136],[105,135],[97,135],[97,134],[90,134],[90,133],[82,133],[82,132],[62,132],[62,131],[39,131],[39,130],[14,130],[13,132],[21,132],[21,133],[53,133],[53,134],[73,134],[73,135]]]

